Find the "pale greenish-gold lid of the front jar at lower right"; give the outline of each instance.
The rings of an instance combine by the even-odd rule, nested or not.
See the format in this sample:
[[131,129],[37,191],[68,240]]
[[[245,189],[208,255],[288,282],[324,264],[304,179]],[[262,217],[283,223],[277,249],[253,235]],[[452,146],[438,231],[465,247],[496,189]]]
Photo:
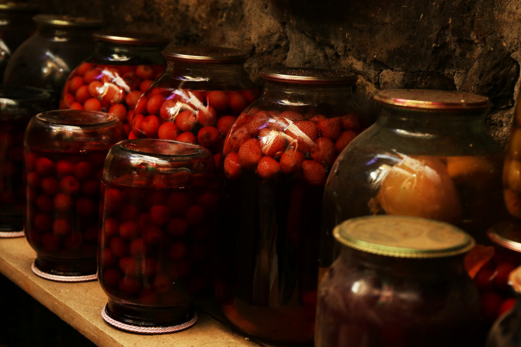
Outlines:
[[358,251],[398,258],[440,258],[475,245],[463,230],[445,222],[407,216],[365,216],[333,229],[338,242]]

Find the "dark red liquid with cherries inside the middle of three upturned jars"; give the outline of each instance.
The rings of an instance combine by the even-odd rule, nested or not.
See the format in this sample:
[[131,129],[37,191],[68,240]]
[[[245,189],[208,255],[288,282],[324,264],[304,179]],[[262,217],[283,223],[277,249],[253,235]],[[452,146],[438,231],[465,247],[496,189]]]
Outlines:
[[107,151],[31,148],[27,152],[25,230],[41,270],[66,276],[96,273],[101,175]]

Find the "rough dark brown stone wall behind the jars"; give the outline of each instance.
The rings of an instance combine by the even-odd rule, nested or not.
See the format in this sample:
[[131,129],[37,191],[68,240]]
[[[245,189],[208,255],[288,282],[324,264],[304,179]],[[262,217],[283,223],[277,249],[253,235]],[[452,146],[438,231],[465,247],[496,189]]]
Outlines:
[[521,61],[517,0],[36,0],[47,13],[95,16],[107,27],[159,33],[177,44],[221,45],[266,67],[351,70],[374,115],[380,89],[458,90],[490,97],[487,129],[505,145]]

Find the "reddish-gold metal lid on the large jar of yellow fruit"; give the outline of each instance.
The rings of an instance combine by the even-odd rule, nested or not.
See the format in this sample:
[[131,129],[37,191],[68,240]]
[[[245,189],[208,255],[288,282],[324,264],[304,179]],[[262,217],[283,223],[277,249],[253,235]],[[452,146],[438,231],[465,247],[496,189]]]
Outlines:
[[479,110],[492,106],[486,96],[423,89],[382,90],[375,95],[375,101],[384,106],[399,106],[411,109]]

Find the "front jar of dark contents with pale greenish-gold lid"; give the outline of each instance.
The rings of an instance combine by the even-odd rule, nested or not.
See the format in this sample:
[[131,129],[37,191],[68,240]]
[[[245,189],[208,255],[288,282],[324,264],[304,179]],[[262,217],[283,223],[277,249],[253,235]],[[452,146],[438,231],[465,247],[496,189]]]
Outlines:
[[342,250],[320,282],[316,347],[479,345],[472,237],[405,216],[353,218],[333,234]]

